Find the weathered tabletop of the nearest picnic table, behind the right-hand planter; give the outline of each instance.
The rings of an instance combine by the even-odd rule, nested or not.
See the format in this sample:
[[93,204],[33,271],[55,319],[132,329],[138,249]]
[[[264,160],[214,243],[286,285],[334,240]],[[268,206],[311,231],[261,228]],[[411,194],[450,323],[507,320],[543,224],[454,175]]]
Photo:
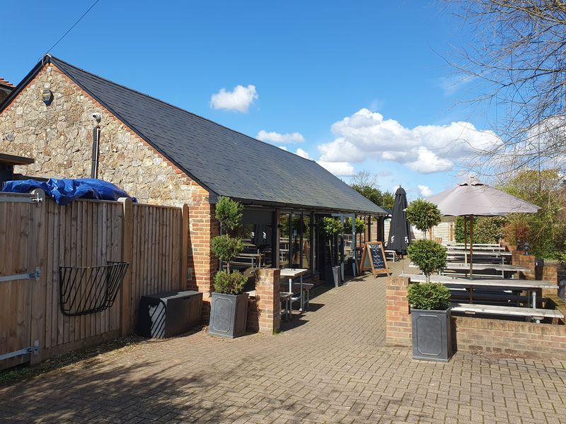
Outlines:
[[[417,283],[425,283],[427,277],[423,274],[401,273],[401,277],[409,277],[411,281]],[[430,276],[432,283],[442,283],[444,285],[463,287],[469,290],[470,303],[473,303],[473,289],[476,287],[483,288],[502,288],[505,290],[526,290],[529,293],[529,298],[532,296],[531,306],[536,308],[536,291],[543,288],[558,288],[556,283],[544,280],[518,280],[510,279],[489,279],[489,278],[454,278],[450,276]]]

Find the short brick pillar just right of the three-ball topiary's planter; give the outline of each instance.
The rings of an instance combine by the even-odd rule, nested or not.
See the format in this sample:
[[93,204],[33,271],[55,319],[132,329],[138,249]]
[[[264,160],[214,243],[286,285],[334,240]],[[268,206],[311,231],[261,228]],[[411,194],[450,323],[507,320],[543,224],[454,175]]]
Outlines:
[[281,270],[262,268],[255,281],[255,300],[258,305],[260,333],[274,334],[281,323]]

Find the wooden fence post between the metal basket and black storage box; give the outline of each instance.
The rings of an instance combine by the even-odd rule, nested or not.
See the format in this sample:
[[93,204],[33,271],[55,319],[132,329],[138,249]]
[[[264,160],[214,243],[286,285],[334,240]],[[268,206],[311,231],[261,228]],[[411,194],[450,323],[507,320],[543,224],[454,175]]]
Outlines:
[[120,333],[122,336],[132,332],[132,257],[134,254],[134,206],[129,197],[118,199],[124,208],[122,222],[122,261],[128,262],[122,289],[120,290]]

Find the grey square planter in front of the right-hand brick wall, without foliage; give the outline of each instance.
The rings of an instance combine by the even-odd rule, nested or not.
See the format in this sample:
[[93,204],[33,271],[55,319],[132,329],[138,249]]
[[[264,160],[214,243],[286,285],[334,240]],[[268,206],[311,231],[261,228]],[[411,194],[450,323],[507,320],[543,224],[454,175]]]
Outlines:
[[412,358],[448,362],[452,356],[450,309],[411,309]]

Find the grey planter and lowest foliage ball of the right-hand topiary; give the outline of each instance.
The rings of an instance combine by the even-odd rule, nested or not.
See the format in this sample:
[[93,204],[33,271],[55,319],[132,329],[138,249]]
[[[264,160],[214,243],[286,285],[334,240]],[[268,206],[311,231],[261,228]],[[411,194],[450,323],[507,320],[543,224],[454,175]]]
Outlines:
[[450,290],[440,283],[408,288],[412,323],[412,358],[448,362],[452,356]]

